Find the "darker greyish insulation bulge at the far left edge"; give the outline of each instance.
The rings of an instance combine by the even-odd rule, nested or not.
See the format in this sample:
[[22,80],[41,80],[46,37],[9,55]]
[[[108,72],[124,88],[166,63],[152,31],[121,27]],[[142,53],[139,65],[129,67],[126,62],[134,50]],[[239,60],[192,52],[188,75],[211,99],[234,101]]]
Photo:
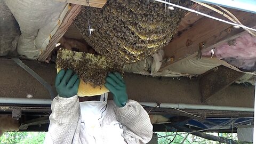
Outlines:
[[0,0],[0,18],[0,56],[5,56],[16,50],[20,29],[3,0]]

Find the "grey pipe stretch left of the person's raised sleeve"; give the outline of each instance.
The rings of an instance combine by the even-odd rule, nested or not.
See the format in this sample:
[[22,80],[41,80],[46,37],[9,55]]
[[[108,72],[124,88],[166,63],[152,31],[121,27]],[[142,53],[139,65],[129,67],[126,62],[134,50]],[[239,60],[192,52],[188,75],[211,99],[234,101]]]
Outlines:
[[27,105],[51,105],[51,99],[28,99],[28,98],[0,98],[0,103],[27,104]]

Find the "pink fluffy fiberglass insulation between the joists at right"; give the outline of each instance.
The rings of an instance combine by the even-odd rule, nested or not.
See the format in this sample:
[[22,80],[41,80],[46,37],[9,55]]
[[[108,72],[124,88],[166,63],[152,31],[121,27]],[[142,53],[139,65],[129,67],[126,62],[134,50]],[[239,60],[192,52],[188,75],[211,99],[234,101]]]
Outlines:
[[[211,51],[203,53],[210,56]],[[256,70],[256,37],[244,34],[227,43],[215,47],[214,57],[227,61],[245,71]]]

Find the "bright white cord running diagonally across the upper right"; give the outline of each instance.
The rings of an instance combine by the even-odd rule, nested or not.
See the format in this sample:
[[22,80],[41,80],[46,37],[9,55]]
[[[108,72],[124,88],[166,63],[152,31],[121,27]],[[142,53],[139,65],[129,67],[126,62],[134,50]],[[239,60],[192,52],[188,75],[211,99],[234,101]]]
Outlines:
[[189,8],[187,8],[187,7],[184,7],[184,6],[176,5],[176,4],[169,3],[169,2],[165,2],[165,1],[162,1],[162,0],[153,0],[153,1],[161,2],[161,3],[164,3],[164,4],[169,4],[169,5],[172,5],[172,6],[174,6],[174,7],[178,7],[178,8],[183,9],[183,10],[187,10],[187,11],[190,11],[190,12],[194,12],[194,13],[203,15],[203,16],[205,16],[205,17],[208,17],[208,18],[211,18],[211,19],[214,19],[214,20],[218,20],[218,21],[221,21],[221,22],[228,23],[228,24],[233,25],[233,26],[238,26],[238,27],[241,27],[241,28],[247,28],[247,29],[256,31],[256,29],[249,28],[249,27],[246,27],[246,26],[244,26],[244,25],[238,25],[237,23],[229,22],[229,21],[222,20],[222,19],[219,19],[219,18],[215,18],[215,17],[212,17],[211,15],[208,15],[208,14],[205,14],[205,13],[202,13],[202,12],[198,12],[198,11],[189,9]]

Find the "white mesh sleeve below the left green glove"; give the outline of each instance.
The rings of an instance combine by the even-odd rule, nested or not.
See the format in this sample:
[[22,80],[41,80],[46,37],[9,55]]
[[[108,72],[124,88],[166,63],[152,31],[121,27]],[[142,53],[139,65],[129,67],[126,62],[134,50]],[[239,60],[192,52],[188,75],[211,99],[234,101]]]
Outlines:
[[49,130],[44,143],[72,143],[77,141],[81,127],[77,95],[71,98],[61,98],[58,95],[52,101],[51,109]]

